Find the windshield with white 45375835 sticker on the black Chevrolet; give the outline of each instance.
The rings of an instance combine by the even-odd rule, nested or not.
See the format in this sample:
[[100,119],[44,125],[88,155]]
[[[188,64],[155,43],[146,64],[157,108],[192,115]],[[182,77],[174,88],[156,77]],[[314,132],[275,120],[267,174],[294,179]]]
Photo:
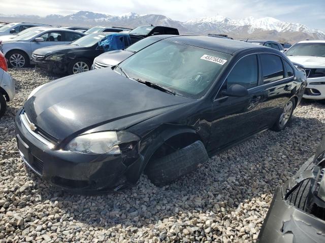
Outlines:
[[230,55],[212,50],[159,41],[119,64],[114,70],[129,78],[141,79],[177,95],[198,99],[206,94]]

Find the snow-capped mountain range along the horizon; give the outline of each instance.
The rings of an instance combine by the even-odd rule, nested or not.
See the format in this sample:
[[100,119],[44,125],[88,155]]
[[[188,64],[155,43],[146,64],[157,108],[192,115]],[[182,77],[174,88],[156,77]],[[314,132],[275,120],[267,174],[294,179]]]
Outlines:
[[303,39],[325,39],[325,33],[318,29],[308,28],[299,23],[288,23],[272,17],[230,19],[220,15],[202,17],[186,22],[176,21],[164,15],[127,13],[108,15],[80,11],[70,15],[52,14],[46,17],[37,15],[1,15],[1,21],[38,22],[57,26],[123,26],[164,25],[178,28],[180,34],[228,34],[236,39],[263,38],[280,42],[295,43]]

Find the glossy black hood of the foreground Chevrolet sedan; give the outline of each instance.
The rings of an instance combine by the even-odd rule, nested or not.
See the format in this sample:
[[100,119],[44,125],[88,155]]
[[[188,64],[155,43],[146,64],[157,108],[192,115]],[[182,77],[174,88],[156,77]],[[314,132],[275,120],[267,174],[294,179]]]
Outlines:
[[145,120],[190,101],[102,68],[46,84],[24,109],[32,123],[62,141],[116,120],[121,123],[114,129],[124,129],[126,117],[142,114]]

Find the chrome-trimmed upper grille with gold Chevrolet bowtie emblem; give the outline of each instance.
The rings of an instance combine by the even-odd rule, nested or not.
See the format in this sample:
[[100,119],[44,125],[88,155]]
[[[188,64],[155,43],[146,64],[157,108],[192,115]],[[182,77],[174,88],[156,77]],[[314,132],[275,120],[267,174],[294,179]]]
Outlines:
[[28,132],[37,138],[39,141],[47,145],[49,148],[53,148],[54,144],[57,142],[53,137],[46,134],[41,129],[37,128],[35,124],[31,123],[25,111],[20,114],[20,118],[23,126],[28,130]]

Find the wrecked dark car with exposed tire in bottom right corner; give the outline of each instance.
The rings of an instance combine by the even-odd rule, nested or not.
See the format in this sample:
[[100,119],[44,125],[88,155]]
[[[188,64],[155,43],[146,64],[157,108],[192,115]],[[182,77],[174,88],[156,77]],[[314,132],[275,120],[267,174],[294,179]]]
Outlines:
[[259,243],[324,242],[325,140],[313,160],[277,187],[259,232]]

